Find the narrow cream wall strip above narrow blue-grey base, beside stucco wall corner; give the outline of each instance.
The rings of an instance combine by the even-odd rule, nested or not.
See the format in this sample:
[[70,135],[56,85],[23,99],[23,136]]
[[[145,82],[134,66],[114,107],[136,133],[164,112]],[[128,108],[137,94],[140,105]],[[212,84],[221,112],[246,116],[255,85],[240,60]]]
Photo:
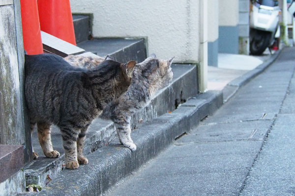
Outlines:
[[208,42],[218,39],[218,0],[208,0]]

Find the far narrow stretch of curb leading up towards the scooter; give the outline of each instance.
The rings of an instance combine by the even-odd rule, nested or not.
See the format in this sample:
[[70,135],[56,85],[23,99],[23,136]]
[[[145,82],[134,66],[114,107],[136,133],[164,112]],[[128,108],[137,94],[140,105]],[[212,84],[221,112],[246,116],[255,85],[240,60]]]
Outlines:
[[[284,49],[284,48],[283,48]],[[266,62],[262,63],[261,65],[257,66],[255,69],[250,70],[249,72],[237,77],[236,79],[232,80],[230,83],[228,83],[224,89],[223,92],[223,102],[227,102],[230,98],[232,98],[237,90],[247,84],[252,78],[257,76],[258,74],[262,73],[266,70],[280,55],[280,53],[283,51],[283,49],[280,49],[275,54],[273,54],[269,59],[266,60]]]

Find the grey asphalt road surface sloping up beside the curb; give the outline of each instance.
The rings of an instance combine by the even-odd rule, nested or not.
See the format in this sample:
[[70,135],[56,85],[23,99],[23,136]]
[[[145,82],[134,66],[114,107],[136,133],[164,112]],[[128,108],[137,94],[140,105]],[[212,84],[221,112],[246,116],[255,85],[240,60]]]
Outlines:
[[105,195],[295,195],[294,52]]

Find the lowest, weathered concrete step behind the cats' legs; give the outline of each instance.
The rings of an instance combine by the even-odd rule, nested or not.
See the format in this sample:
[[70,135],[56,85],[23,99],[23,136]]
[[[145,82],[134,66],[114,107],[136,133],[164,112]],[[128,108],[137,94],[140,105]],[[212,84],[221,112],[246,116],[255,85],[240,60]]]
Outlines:
[[[150,104],[140,110],[132,118],[132,128],[137,130],[138,122],[142,119],[144,123],[157,118],[160,115],[172,112],[184,103],[187,99],[198,96],[198,78],[197,68],[195,65],[172,65],[174,78],[171,86],[173,91],[168,87],[160,90]],[[208,110],[207,112],[209,112]],[[84,152],[89,154],[97,151],[101,147],[108,145],[113,139],[117,139],[114,123],[95,119],[89,126],[87,141]],[[54,179],[62,171],[64,164],[64,150],[61,142],[59,129],[55,126],[52,128],[52,142],[56,150],[60,152],[60,157],[55,159],[46,158],[38,142],[37,131],[32,136],[34,150],[39,154],[39,158],[25,167],[26,184],[46,185],[48,175]]]

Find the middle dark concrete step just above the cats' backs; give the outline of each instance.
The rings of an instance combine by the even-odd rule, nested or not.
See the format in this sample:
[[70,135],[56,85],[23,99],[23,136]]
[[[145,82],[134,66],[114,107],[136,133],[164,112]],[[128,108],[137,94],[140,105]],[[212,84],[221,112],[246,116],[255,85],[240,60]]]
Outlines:
[[147,58],[144,39],[94,39],[81,42],[78,47],[98,56],[113,56],[118,62],[136,60],[142,62]]

